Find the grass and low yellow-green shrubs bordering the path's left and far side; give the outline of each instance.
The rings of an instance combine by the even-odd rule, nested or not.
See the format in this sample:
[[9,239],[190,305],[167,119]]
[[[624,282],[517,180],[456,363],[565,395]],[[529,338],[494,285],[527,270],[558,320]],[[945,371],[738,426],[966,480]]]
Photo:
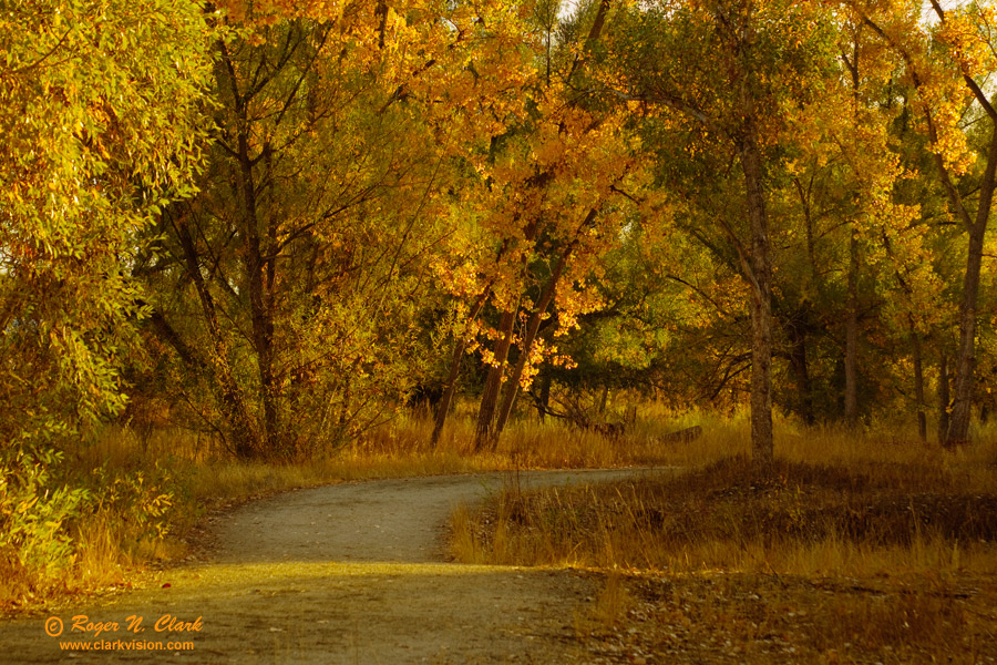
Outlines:
[[358,441],[292,462],[238,460],[179,428],[105,426],[44,459],[3,467],[0,612],[126,586],[150,564],[184,559],[208,511],[263,494],[370,478],[681,463],[654,441],[680,426],[655,417],[630,437],[607,438],[525,419],[510,423],[495,450],[475,452],[470,415],[452,418],[433,448],[429,415],[405,410]]

